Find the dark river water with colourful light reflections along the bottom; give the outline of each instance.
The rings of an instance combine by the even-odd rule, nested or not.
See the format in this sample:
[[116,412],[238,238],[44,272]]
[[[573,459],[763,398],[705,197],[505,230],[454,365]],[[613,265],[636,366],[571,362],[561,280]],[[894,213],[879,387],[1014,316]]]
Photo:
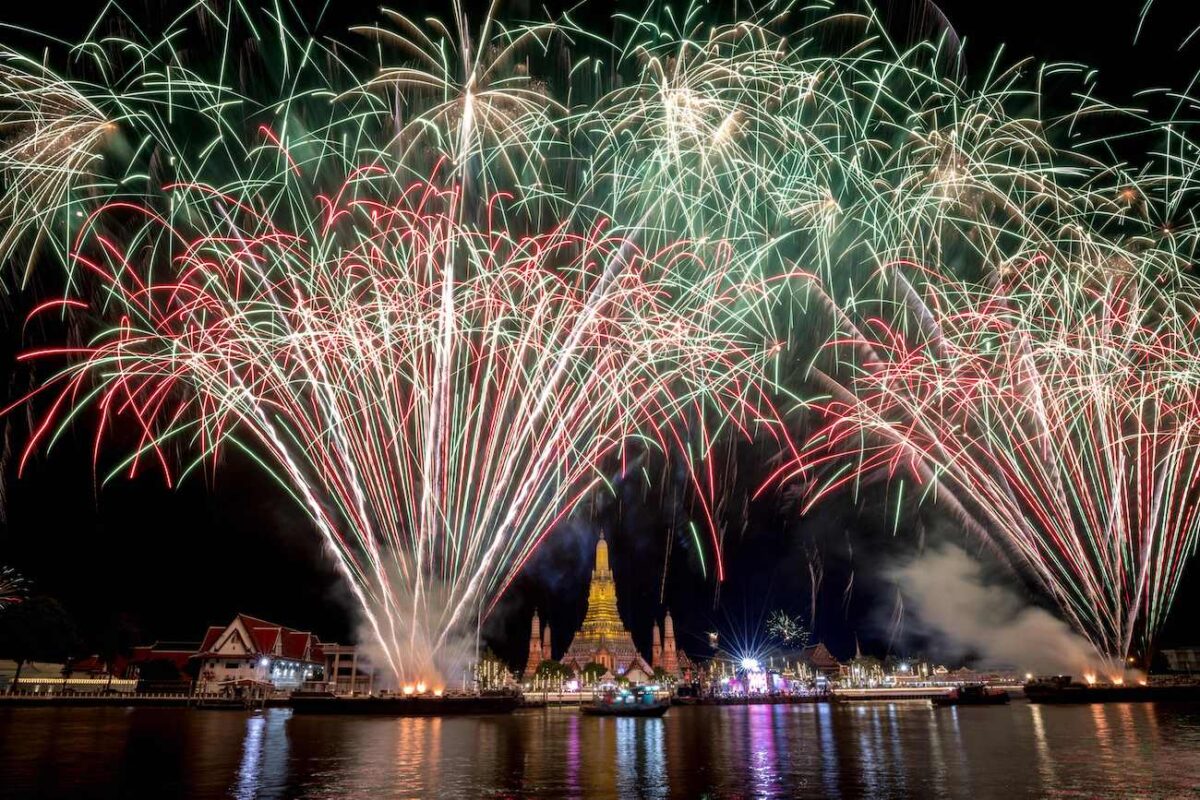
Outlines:
[[1200,798],[1200,704],[0,709],[0,798]]

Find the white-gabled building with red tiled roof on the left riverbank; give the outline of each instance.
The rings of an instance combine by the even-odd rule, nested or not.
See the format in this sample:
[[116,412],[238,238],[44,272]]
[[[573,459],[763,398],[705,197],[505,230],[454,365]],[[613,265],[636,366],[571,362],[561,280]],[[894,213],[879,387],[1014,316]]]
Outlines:
[[228,625],[214,625],[204,634],[199,651],[197,691],[206,693],[292,691],[320,676],[325,655],[320,642],[307,631],[238,614]]

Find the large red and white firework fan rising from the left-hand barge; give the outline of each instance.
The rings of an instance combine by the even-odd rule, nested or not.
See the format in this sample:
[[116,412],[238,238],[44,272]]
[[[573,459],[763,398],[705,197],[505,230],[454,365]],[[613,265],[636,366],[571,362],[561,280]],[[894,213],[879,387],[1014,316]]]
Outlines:
[[[390,206],[346,188],[299,233],[239,201],[230,231],[233,198],[176,191],[210,198],[214,219],[199,229],[211,234],[188,239],[146,212],[162,229],[144,236],[155,251],[125,252],[98,233],[97,257],[80,245],[77,258],[107,287],[96,303],[124,320],[71,353],[50,384],[50,417],[94,404],[97,451],[113,420],[136,420],[142,441],[120,469],[176,439],[202,459],[229,445],[265,451],[401,676],[446,668],[448,637],[623,443],[654,445],[647,437],[696,403],[763,419],[748,386],[766,355],[724,307],[769,288],[714,291],[737,266],[721,243],[647,253],[565,227],[517,239],[460,225],[458,187],[431,185]],[[329,259],[329,236],[355,239]],[[163,263],[175,276],[155,281]],[[684,269],[694,264],[707,277]],[[85,377],[96,389],[80,399]]]

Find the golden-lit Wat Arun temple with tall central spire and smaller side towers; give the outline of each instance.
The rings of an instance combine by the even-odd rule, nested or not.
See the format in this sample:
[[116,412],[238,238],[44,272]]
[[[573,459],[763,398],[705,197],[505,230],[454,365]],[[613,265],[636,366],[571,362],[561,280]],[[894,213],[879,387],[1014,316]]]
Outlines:
[[[534,612],[524,676],[530,678],[538,664],[550,658],[550,626],[542,628],[538,612]],[[562,663],[576,673],[589,663],[598,663],[613,676],[624,675],[640,680],[652,676],[655,668],[678,678],[682,667],[688,666],[688,657],[676,650],[671,612],[667,612],[661,630],[658,622],[654,624],[650,661],[647,662],[638,652],[634,637],[625,630],[617,610],[617,584],[608,566],[608,543],[604,534],[600,534],[600,541],[596,542],[595,566],[588,587],[588,612],[562,657]]]

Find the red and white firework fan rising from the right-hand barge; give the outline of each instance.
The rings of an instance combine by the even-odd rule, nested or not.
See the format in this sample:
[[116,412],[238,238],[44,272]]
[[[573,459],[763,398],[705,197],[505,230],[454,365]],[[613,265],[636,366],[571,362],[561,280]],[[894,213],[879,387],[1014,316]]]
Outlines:
[[792,469],[817,476],[810,503],[910,475],[949,495],[1123,663],[1200,531],[1194,295],[1120,273],[919,277],[830,342],[865,355],[838,357],[847,391]]

